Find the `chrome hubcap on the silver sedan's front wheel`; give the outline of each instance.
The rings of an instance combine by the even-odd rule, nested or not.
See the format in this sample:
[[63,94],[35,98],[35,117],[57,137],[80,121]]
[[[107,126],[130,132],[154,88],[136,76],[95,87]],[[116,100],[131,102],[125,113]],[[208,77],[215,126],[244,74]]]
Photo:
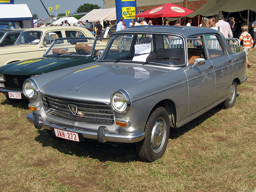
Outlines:
[[154,153],[161,151],[166,138],[166,122],[164,118],[159,117],[153,126],[151,133],[151,148]]

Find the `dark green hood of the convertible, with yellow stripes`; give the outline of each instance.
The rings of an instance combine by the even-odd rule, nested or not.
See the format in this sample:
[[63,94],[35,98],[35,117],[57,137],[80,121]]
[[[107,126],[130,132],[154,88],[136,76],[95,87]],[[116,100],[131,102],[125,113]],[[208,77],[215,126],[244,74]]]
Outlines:
[[[9,75],[33,75],[43,74],[51,71],[72,67],[82,64],[83,60],[88,57],[51,57],[51,58],[35,58],[24,61],[13,62],[8,65],[0,67],[0,73]],[[83,62],[84,63],[84,62]]]

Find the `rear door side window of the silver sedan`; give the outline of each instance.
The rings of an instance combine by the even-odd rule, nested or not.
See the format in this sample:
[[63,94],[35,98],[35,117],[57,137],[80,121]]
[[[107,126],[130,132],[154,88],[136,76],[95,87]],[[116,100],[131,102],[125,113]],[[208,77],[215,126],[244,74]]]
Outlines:
[[217,35],[205,35],[205,39],[210,58],[225,55]]

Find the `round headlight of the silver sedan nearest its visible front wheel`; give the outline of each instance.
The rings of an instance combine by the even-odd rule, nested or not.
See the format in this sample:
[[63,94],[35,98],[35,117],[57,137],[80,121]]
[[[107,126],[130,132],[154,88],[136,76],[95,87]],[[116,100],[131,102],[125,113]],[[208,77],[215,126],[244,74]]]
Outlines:
[[111,96],[111,106],[118,113],[129,111],[131,103],[129,94],[123,89],[117,90]]

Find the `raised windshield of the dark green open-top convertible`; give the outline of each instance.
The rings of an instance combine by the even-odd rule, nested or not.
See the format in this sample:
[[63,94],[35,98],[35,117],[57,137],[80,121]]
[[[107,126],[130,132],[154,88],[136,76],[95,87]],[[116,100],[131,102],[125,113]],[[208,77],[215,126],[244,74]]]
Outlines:
[[95,42],[95,38],[56,39],[44,55],[97,55],[97,51],[94,51]]

